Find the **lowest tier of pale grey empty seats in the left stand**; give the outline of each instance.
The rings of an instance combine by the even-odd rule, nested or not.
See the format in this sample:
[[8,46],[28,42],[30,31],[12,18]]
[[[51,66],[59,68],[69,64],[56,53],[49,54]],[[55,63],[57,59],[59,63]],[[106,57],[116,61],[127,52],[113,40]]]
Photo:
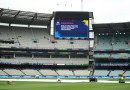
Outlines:
[[60,75],[60,76],[89,76],[90,71],[86,70],[51,70],[51,69],[4,69],[0,70],[0,75]]

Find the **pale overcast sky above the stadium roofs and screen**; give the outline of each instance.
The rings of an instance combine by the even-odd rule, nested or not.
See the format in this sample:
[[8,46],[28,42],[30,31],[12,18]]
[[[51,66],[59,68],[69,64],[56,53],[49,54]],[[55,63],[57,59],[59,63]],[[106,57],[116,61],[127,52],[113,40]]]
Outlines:
[[[94,13],[96,23],[130,21],[130,0],[84,0],[84,11]],[[80,11],[81,0],[0,0],[0,8],[52,13]]]

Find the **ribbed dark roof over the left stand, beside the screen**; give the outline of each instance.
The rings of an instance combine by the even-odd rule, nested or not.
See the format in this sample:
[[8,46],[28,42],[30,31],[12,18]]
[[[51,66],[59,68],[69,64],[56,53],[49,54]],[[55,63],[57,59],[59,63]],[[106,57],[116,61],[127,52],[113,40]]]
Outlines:
[[52,14],[0,8],[0,22],[9,24],[49,25]]

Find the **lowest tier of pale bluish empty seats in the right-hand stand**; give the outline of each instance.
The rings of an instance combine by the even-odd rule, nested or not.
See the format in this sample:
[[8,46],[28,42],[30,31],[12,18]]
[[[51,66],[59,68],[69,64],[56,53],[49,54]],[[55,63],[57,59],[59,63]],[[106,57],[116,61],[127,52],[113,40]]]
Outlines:
[[123,70],[95,70],[94,76],[118,76],[118,74],[123,74],[124,76],[130,76],[130,71]]

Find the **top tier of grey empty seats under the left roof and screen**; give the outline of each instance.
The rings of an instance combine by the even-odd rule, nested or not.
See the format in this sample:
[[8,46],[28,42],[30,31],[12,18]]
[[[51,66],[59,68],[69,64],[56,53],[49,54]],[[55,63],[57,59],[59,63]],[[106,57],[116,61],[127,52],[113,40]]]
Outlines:
[[[55,40],[47,29],[0,26],[0,39],[13,40],[11,46],[34,48],[89,48],[88,40]],[[55,43],[51,41],[54,40]],[[36,42],[35,42],[36,41]],[[73,42],[73,43],[71,43]],[[9,45],[9,44],[7,44]],[[4,44],[0,44],[4,46]]]

